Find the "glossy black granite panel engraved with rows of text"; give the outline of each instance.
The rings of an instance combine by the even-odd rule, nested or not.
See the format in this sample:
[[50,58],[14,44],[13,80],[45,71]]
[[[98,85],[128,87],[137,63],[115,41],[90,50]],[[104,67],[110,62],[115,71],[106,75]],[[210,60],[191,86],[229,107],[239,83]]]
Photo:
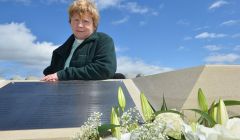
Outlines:
[[122,81],[10,83],[0,89],[0,130],[79,127],[93,112],[109,123],[119,86],[134,107]]

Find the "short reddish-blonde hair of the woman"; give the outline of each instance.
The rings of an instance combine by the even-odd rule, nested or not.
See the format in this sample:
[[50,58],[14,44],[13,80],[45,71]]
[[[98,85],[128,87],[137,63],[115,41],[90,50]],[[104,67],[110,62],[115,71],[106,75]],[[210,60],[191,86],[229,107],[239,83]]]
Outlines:
[[93,19],[93,26],[97,29],[99,22],[99,12],[96,5],[91,0],[75,0],[69,6],[68,15],[69,22],[71,22],[71,17],[75,14],[79,14],[82,17],[85,13],[89,13]]

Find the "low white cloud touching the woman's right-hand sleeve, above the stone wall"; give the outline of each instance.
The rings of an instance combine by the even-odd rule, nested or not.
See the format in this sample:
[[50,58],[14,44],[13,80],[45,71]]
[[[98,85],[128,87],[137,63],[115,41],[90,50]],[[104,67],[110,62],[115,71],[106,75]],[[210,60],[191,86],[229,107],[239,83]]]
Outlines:
[[152,75],[173,70],[168,67],[149,65],[143,60],[133,59],[126,56],[118,57],[118,72],[126,74],[128,77],[136,77],[137,74]]

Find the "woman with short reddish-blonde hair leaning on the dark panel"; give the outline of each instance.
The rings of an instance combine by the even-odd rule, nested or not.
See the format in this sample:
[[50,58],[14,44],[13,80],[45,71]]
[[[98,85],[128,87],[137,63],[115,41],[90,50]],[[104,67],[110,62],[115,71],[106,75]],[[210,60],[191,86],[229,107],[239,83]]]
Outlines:
[[69,7],[73,35],[53,51],[43,81],[101,80],[114,76],[116,54],[111,37],[96,32],[99,13],[90,0],[75,0]]

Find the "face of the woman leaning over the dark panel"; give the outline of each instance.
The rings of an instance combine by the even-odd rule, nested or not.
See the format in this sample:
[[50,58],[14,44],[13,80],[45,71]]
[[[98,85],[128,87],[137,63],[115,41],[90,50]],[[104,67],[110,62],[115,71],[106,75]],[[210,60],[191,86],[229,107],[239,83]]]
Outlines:
[[88,38],[95,30],[93,19],[89,13],[84,14],[81,18],[77,13],[73,14],[70,24],[73,34],[80,40]]

